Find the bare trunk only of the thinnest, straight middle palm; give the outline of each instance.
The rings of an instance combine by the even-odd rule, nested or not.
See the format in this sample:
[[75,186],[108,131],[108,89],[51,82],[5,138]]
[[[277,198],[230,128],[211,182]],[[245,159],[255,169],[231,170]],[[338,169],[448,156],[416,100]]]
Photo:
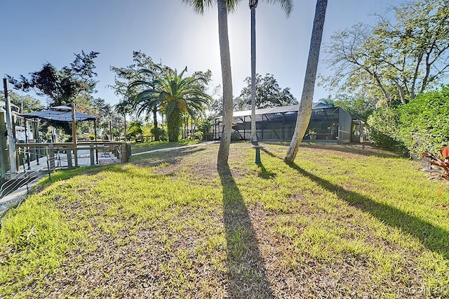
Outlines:
[[251,10],[251,142],[257,145],[255,122],[255,8],[258,0],[249,0]]

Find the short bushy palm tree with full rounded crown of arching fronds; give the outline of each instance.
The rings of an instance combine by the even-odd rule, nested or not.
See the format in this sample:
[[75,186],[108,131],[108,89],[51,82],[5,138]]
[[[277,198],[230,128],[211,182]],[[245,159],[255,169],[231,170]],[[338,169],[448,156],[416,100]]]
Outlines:
[[204,77],[185,77],[187,67],[177,74],[176,69],[166,68],[162,74],[156,74],[154,69],[141,69],[139,74],[149,74],[154,77],[151,82],[133,81],[129,88],[145,85],[149,88],[135,95],[135,107],[138,115],[142,112],[154,112],[154,109],[163,109],[167,115],[168,141],[177,141],[180,134],[182,114],[194,117],[204,114],[206,106],[210,105],[212,98],[204,93],[199,81],[207,84]]

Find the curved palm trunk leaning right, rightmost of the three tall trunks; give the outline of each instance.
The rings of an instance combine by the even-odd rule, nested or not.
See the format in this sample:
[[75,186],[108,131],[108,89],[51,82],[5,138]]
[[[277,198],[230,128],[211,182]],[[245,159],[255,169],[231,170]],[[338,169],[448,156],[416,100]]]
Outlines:
[[306,133],[307,126],[309,126],[311,105],[314,100],[316,69],[318,68],[321,38],[323,36],[324,18],[326,17],[327,6],[328,0],[316,0],[314,27],[311,31],[309,58],[307,58],[304,86],[302,86],[301,102],[297,112],[295,133],[293,133],[290,147],[288,147],[286,157],[284,157],[286,163],[293,163],[293,160],[295,160],[297,150],[300,147],[304,133]]

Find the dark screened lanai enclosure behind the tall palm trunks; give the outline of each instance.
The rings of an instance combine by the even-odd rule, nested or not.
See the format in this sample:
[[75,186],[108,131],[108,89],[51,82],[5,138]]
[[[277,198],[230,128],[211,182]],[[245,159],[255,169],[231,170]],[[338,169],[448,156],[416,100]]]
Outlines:
[[[257,140],[290,141],[295,131],[299,105],[256,109]],[[235,111],[234,138],[250,140],[251,110]],[[213,136],[220,139],[222,117],[211,119]],[[304,141],[351,142],[352,118],[344,109],[322,102],[314,103]]]

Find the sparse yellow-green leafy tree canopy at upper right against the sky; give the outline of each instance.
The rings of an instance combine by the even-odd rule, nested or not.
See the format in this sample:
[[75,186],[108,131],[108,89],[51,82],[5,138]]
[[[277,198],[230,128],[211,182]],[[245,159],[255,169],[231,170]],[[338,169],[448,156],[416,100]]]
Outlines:
[[394,107],[448,74],[448,2],[416,0],[377,17],[374,27],[358,24],[332,36],[326,48],[327,65],[334,70],[328,87],[368,91],[380,105]]

